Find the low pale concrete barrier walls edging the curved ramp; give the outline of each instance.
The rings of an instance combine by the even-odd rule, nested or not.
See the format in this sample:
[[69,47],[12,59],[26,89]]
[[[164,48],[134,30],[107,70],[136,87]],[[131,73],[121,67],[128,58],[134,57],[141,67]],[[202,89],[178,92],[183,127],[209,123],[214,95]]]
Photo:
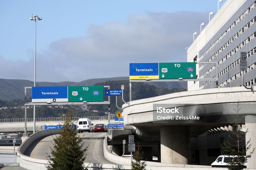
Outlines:
[[[59,133],[60,129],[49,129],[49,130],[42,130],[39,132],[34,133],[31,137],[27,138],[19,147],[18,149],[18,162],[20,163],[21,167],[26,169],[39,169],[45,170],[45,165],[48,164],[48,160],[36,159],[29,156],[24,155],[23,153],[27,148],[29,148],[30,144],[38,138],[42,138],[44,136],[55,135]],[[120,157],[111,153],[108,149],[107,145],[107,137],[104,139],[103,144],[103,152],[105,158],[113,162],[114,164],[84,164],[88,166],[89,169],[93,170],[110,170],[110,169],[121,169],[121,170],[128,170],[131,169],[131,160],[128,158]],[[170,166],[174,170],[209,170],[210,166],[200,166],[200,165],[178,165],[178,164],[166,164],[166,163],[158,163],[158,162],[149,162],[147,163],[147,169],[155,169],[155,170],[169,170]],[[213,168],[212,168],[213,169]],[[218,168],[218,170],[226,170],[227,168]]]

